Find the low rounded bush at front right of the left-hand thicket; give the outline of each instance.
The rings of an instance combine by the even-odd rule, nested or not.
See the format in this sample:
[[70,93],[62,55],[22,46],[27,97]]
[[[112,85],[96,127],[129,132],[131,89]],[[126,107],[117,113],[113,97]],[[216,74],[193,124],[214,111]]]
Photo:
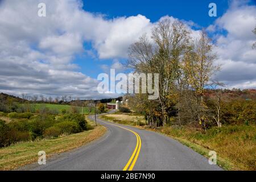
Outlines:
[[81,127],[76,122],[71,121],[63,121],[54,125],[60,130],[60,133],[72,134],[72,133],[79,133],[82,131]]

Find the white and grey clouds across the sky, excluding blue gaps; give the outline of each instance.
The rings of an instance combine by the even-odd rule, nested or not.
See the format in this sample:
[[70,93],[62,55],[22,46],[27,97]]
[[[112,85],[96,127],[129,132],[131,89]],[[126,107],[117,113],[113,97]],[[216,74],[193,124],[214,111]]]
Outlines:
[[[155,23],[146,16],[134,15],[108,19],[101,14],[82,9],[79,0],[46,3],[47,16],[38,16],[39,0],[1,1],[0,3],[0,92],[11,94],[72,94],[81,98],[103,98],[98,94],[98,81],[78,70],[73,63],[76,55],[87,53],[98,59],[112,59],[112,65],[122,71],[118,61],[127,57],[127,49]],[[172,16],[163,16],[170,18]],[[255,88],[256,51],[252,30],[256,7],[234,1],[228,11],[208,27],[213,32],[223,64],[217,78],[230,86]],[[192,30],[193,22],[184,22]],[[226,31],[223,35],[221,31]],[[84,43],[92,44],[85,50]],[[94,54],[96,53],[96,54]],[[111,95],[113,96],[113,95]]]

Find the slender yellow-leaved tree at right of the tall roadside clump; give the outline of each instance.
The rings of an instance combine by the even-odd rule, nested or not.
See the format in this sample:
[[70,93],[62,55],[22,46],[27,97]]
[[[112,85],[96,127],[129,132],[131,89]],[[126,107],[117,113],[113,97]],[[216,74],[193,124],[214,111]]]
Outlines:
[[212,53],[213,45],[205,31],[201,32],[200,39],[196,41],[193,49],[189,49],[184,59],[184,70],[188,84],[194,90],[197,101],[197,118],[202,128],[205,129],[204,89],[210,78],[218,71],[213,64],[216,55]]

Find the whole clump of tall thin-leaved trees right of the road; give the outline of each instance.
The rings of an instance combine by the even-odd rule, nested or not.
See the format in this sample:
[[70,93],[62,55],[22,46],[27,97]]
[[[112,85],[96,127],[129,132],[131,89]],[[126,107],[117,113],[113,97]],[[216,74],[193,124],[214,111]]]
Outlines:
[[183,23],[166,18],[152,28],[151,39],[143,35],[129,48],[127,66],[135,73],[159,73],[158,100],[141,93],[127,96],[133,111],[144,114],[152,127],[177,120],[180,125],[199,122],[205,129],[205,87],[219,67],[207,34],[201,32],[198,40],[190,35]]

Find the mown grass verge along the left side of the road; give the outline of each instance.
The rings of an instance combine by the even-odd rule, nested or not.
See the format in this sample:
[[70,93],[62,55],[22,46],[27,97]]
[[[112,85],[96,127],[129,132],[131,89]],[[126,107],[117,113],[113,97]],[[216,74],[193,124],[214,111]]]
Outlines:
[[[88,122],[93,125],[93,123]],[[11,170],[38,160],[38,152],[45,151],[47,158],[53,154],[73,150],[101,137],[106,132],[104,126],[92,130],[63,136],[55,139],[42,139],[33,142],[20,142],[0,148],[0,170]]]

